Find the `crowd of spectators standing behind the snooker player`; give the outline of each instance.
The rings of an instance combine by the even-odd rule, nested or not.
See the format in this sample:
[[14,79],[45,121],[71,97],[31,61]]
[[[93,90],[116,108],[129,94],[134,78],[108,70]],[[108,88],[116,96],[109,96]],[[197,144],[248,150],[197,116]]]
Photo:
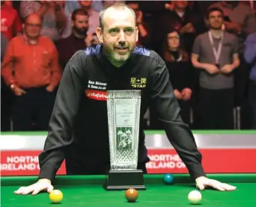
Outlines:
[[[1,1],[1,132],[44,131],[67,61],[115,1]],[[255,1],[126,1],[192,129],[256,129]],[[147,129],[162,129],[156,111]]]

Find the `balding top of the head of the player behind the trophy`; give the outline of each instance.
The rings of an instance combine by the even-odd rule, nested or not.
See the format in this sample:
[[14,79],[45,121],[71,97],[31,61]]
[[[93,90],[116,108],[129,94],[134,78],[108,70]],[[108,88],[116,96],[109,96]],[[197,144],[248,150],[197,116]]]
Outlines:
[[128,16],[129,18],[134,19],[135,23],[136,16],[134,10],[127,4],[116,2],[112,6],[106,7],[100,11],[100,28],[103,29],[104,25],[109,22],[109,19],[116,19],[117,16],[118,18]]

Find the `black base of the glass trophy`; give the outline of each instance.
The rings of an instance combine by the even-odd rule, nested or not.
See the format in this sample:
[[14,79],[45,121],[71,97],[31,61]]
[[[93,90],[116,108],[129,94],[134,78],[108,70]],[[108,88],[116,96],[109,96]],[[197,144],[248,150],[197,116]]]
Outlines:
[[146,190],[142,170],[109,170],[108,179],[103,185],[106,191],[127,191],[133,188]]

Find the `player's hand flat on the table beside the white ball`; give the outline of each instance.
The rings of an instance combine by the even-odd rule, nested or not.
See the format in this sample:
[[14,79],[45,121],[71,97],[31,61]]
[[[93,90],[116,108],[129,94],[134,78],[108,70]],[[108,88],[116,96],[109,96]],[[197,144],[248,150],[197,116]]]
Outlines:
[[233,185],[228,185],[227,183],[219,182],[215,179],[208,179],[207,177],[201,176],[195,179],[196,187],[204,191],[205,188],[211,187],[218,191],[234,191],[237,189],[237,187]]

